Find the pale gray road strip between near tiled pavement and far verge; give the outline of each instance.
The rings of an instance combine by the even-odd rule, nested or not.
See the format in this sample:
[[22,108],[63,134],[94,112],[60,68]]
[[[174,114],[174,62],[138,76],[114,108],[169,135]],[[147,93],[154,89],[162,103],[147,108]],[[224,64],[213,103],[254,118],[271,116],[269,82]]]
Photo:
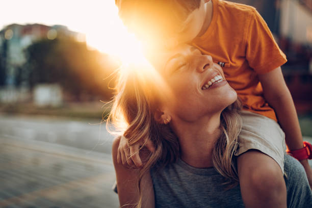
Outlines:
[[100,120],[70,120],[46,116],[0,114],[0,135],[22,140],[43,141],[87,151],[111,152],[113,137]]

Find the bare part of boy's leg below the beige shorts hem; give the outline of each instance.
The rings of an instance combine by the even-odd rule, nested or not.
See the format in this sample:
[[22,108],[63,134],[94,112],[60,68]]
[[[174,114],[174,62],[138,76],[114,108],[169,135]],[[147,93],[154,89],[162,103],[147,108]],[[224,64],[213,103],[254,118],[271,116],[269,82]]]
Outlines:
[[268,155],[248,150],[238,157],[242,199],[249,207],[287,207],[287,190],[280,166]]

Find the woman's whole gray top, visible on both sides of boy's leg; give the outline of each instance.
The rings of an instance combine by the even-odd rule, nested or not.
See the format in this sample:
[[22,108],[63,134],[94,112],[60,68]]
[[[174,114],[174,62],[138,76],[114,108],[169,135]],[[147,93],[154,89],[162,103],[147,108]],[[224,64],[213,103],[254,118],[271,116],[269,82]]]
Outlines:
[[[312,192],[303,167],[285,155],[285,179],[288,207],[312,207]],[[214,168],[194,168],[179,160],[163,169],[150,171],[155,207],[244,207],[240,187],[225,190],[221,176]]]

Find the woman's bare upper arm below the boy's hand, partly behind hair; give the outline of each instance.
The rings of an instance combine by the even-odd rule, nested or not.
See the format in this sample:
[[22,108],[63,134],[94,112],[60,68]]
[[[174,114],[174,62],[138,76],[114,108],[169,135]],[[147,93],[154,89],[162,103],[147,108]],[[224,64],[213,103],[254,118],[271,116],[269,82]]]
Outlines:
[[[117,162],[118,146],[121,137],[113,142],[112,156],[116,172],[117,190],[121,207],[136,207],[139,201],[138,177],[140,169],[130,169]],[[154,207],[154,190],[147,171],[142,178],[142,207]]]

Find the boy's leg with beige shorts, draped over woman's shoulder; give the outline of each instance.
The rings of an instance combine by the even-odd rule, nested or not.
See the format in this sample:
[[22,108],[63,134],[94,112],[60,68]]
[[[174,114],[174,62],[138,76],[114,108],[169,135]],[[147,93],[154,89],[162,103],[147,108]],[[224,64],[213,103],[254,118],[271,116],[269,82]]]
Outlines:
[[242,111],[241,117],[243,126],[235,155],[245,206],[287,207],[285,134],[276,121],[265,116]]

